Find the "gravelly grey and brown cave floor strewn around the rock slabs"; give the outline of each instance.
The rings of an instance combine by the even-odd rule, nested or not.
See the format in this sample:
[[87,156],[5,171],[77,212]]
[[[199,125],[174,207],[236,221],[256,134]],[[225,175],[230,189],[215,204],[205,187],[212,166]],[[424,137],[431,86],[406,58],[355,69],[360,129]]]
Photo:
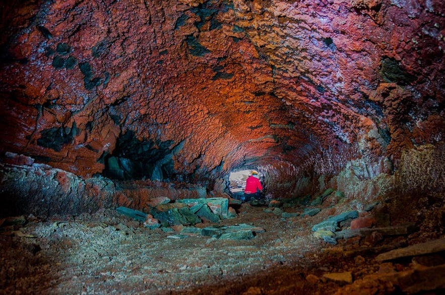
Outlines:
[[[380,239],[378,244],[353,238],[331,245],[315,238],[310,229],[332,209],[282,218],[266,208],[242,204],[238,217],[221,222],[265,230],[239,241],[201,235],[174,239],[172,233],[144,228],[108,209],[51,220],[27,216],[26,224],[0,235],[0,293],[399,293],[395,281],[413,268],[411,261],[374,259],[407,245],[409,236]],[[422,240],[419,233],[414,235]],[[353,283],[342,279],[344,274],[351,274]],[[443,291],[443,286],[433,289]]]

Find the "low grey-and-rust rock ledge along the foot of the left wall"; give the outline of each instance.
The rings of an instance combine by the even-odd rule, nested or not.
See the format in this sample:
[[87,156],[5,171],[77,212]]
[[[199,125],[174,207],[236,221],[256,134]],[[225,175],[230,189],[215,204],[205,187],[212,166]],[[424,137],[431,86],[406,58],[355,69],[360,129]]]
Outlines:
[[[25,160],[26,165],[18,165]],[[14,164],[4,164],[6,162]],[[151,200],[159,196],[169,196],[171,200],[206,196],[205,188],[179,183],[116,184],[103,177],[82,179],[70,172],[32,163],[32,159],[23,155],[10,157],[4,163],[0,163],[0,202],[3,204],[0,216],[78,215],[119,205],[147,210]]]

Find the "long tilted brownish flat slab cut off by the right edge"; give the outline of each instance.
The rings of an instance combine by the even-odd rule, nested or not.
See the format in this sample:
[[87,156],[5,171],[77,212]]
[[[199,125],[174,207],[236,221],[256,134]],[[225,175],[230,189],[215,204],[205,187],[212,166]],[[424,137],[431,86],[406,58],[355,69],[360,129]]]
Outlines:
[[445,251],[445,238],[391,250],[375,257],[377,261],[387,261],[403,257],[432,254]]

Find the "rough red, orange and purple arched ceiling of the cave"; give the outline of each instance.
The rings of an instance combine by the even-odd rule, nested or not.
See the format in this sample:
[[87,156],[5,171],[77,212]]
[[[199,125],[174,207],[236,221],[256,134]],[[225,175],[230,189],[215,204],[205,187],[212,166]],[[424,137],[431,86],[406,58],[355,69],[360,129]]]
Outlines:
[[443,140],[441,0],[13,1],[1,26],[2,152],[82,177]]

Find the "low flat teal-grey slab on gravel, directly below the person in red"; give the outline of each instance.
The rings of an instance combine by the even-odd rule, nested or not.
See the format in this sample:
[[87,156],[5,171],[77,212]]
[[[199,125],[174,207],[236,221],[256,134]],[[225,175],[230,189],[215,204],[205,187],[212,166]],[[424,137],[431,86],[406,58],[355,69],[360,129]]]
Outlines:
[[201,234],[218,239],[250,240],[255,237],[255,234],[263,232],[265,232],[265,230],[262,228],[240,224],[234,226],[207,227],[202,230]]

